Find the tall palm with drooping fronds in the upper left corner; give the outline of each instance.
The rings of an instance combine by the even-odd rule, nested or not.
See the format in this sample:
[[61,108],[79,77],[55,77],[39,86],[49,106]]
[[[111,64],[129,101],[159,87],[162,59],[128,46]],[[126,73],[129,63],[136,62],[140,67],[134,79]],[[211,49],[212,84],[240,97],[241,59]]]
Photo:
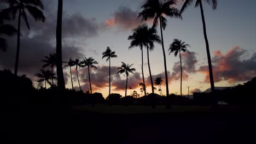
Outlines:
[[9,4],[9,8],[4,9],[3,13],[10,14],[13,16],[13,19],[15,19],[16,14],[18,13],[18,39],[17,39],[17,51],[16,51],[16,60],[15,60],[15,69],[14,69],[14,75],[17,76],[18,74],[18,65],[19,65],[19,55],[20,55],[20,23],[21,18],[25,21],[27,28],[30,29],[30,25],[27,20],[27,13],[29,13],[34,20],[36,21],[45,21],[43,9],[44,5],[40,0],[4,0],[2,2],[5,2]]

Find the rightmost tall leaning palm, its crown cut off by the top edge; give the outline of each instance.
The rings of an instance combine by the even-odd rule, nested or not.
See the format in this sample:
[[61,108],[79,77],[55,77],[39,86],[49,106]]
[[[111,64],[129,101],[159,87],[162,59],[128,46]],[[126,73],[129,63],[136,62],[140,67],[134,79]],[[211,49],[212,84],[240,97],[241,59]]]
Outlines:
[[[183,0],[184,1],[184,0]],[[205,44],[206,44],[206,52],[207,52],[207,59],[208,59],[208,68],[209,68],[209,75],[210,75],[210,83],[211,83],[211,90],[213,93],[213,106],[217,104],[217,98],[216,95],[214,94],[215,92],[215,87],[214,87],[214,80],[213,80],[213,73],[212,73],[212,62],[211,62],[211,53],[210,53],[210,48],[209,48],[209,42],[207,38],[207,33],[206,33],[206,24],[205,24],[205,15],[203,14],[203,7],[202,7],[202,0],[185,0],[185,3],[183,4],[183,7],[181,11],[179,11],[180,14],[183,13],[183,11],[192,4],[193,1],[196,1],[195,7],[200,6],[201,10],[201,17],[202,17],[202,23],[203,23],[203,35],[205,37]],[[217,0],[204,0],[208,4],[210,4],[214,9],[217,8],[218,1]]]

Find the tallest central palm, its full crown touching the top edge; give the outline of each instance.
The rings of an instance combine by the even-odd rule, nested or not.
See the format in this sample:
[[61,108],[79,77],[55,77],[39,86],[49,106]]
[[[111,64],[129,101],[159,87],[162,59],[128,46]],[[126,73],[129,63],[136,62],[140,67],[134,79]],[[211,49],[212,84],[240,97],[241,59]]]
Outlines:
[[169,89],[168,89],[168,77],[167,77],[168,75],[167,75],[166,56],[165,56],[164,38],[162,36],[162,29],[165,30],[167,25],[167,19],[165,18],[165,16],[181,17],[179,15],[178,9],[172,7],[172,5],[174,4],[176,4],[175,0],[169,0],[164,2],[160,0],[147,0],[147,2],[141,7],[143,8],[143,10],[138,15],[138,17],[142,17],[142,21],[147,21],[148,19],[154,19],[153,27],[158,26],[158,23],[160,23],[162,52],[164,56],[164,66],[165,66],[166,96],[169,95]]

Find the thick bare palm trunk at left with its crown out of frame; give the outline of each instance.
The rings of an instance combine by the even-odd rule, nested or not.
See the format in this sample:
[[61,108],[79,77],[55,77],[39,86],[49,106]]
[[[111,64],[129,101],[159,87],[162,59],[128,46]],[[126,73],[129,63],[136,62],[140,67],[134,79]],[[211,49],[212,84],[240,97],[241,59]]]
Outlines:
[[57,15],[57,28],[56,28],[56,68],[57,68],[57,80],[58,86],[61,89],[65,89],[65,81],[62,69],[62,7],[63,1],[58,1],[58,15]]

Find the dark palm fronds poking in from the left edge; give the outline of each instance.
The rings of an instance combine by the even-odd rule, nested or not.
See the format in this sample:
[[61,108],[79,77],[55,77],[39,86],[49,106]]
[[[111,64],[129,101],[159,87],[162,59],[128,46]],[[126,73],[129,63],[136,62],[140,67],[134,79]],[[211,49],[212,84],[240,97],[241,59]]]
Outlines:
[[[17,29],[14,26],[9,24],[5,24],[4,20],[10,20],[10,16],[4,14],[2,11],[0,12],[0,35],[7,35],[9,37],[13,36],[17,33]],[[7,41],[4,38],[0,38],[0,49],[6,51],[7,49]]]

